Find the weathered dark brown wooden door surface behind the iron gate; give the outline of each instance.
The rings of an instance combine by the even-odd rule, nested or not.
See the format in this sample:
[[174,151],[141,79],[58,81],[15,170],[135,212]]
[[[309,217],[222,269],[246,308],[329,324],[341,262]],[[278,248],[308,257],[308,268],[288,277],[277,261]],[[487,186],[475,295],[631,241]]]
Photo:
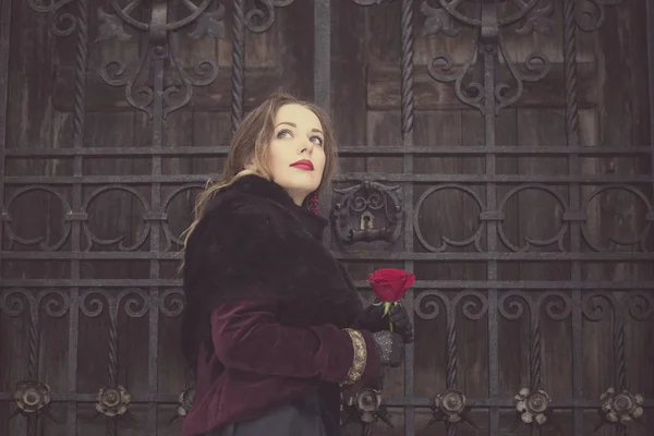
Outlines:
[[[90,40],[96,38],[98,20],[95,11],[100,2],[90,2]],[[1,4],[1,3],[0,3]],[[425,37],[422,34],[423,19],[415,10],[415,132],[414,143],[428,146],[483,146],[484,120],[479,111],[463,106],[456,98],[451,84],[437,84],[426,73],[426,65],[435,52],[452,53],[459,64],[465,59],[470,38],[448,39]],[[48,32],[44,16],[29,10],[26,2],[13,1],[10,52],[9,111],[7,119],[7,149],[14,148],[61,148],[73,144],[74,107],[74,38],[60,38]],[[546,53],[553,69],[543,81],[525,85],[518,102],[504,109],[496,119],[497,144],[507,146],[565,145],[566,129],[564,119],[565,75],[561,55],[560,9],[555,8],[555,36],[520,37],[507,33],[507,47],[514,60],[524,60],[536,48]],[[645,65],[645,21],[644,3],[629,2],[611,8],[604,26],[596,33],[579,33],[579,106],[580,141],[584,146],[609,146],[622,148],[647,145],[649,101]],[[225,145],[229,142],[231,121],[231,9],[227,8],[225,35],[227,39],[193,41],[182,38],[183,61],[192,65],[197,59],[214,59],[220,66],[217,81],[206,88],[195,88],[194,96],[185,108],[170,114],[166,128],[166,146]],[[311,2],[296,1],[293,5],[277,11],[277,22],[270,31],[262,35],[247,34],[245,104],[247,107],[261,101],[271,90],[282,87],[303,97],[313,94],[313,11]],[[331,101],[332,117],[339,142],[348,145],[376,146],[401,144],[400,135],[400,25],[399,2],[389,2],[374,8],[361,8],[350,1],[332,2],[332,66]],[[86,147],[149,147],[152,146],[152,123],[141,112],[128,105],[122,88],[111,88],[98,75],[101,65],[113,59],[135,61],[138,58],[138,43],[128,44],[105,41],[92,44],[87,70],[87,97],[85,118]],[[0,138],[2,141],[3,138]],[[341,158],[342,172],[402,172],[401,157],[347,157]],[[645,159],[639,158],[581,158],[584,174],[646,174],[652,169]],[[496,171],[500,174],[568,174],[568,161],[558,157],[497,157]],[[162,174],[216,174],[221,165],[220,157],[213,158],[162,158]],[[484,174],[485,157],[428,157],[416,158],[415,173]],[[83,174],[93,175],[148,175],[153,171],[150,158],[84,158]],[[11,175],[69,175],[73,174],[72,159],[10,158],[5,160],[4,174]],[[4,198],[23,186],[4,186]],[[85,186],[86,199],[98,186]],[[167,198],[175,184],[165,184],[161,197]],[[414,202],[431,186],[419,184],[414,189]],[[487,201],[484,183],[468,184],[483,203]],[[497,186],[500,202],[516,184]],[[550,185],[565,201],[570,198],[569,185]],[[589,198],[597,186],[583,186],[581,203]],[[651,198],[651,186],[635,186]],[[72,187],[55,186],[69,202]],[[150,202],[150,185],[143,183],[134,190]],[[190,190],[173,197],[167,213],[168,226],[173,234],[179,234],[190,222],[192,201],[197,190]],[[645,211],[640,201],[625,191],[608,191],[589,204],[586,234],[594,244],[606,244],[609,237],[635,238],[645,226]],[[98,237],[112,239],[124,237],[124,243],[135,243],[144,230],[143,205],[134,195],[124,191],[109,191],[98,195],[88,207],[88,227]],[[49,243],[62,237],[65,213],[57,197],[46,192],[33,192],[11,205],[13,221],[11,229],[22,238],[47,235]],[[460,189],[439,191],[431,195],[422,205],[419,226],[424,239],[434,246],[447,237],[462,241],[480,227],[480,207],[472,197]],[[562,208],[554,196],[535,190],[525,190],[512,196],[504,209],[504,232],[516,246],[523,246],[528,238],[546,240],[561,228]],[[135,251],[148,252],[150,239],[146,238]],[[41,249],[35,244],[8,245],[8,234],[2,234],[3,251],[34,251]],[[82,237],[82,249],[87,240]],[[564,246],[570,246],[569,237]],[[480,240],[482,251],[488,250],[485,231]],[[649,249],[652,250],[652,241]],[[332,249],[341,253],[354,253],[361,246],[342,247],[334,243]],[[65,242],[58,251],[70,252],[71,243]],[[94,252],[120,251],[118,243],[94,244]],[[162,240],[161,251],[177,252],[179,245]],[[396,243],[389,250],[402,252],[402,244]],[[414,239],[414,250],[427,250]],[[448,247],[449,252],[474,252],[465,247]],[[557,252],[556,244],[545,247],[531,247],[532,251]],[[620,246],[621,251],[635,251],[633,246]],[[497,251],[510,252],[511,247],[498,241]],[[582,244],[584,253],[591,253],[588,244]],[[347,267],[355,280],[364,280],[366,274],[378,267],[399,267],[401,262],[348,262]],[[178,264],[161,261],[159,277],[177,279]],[[70,261],[2,261],[0,277],[3,280],[17,279],[68,279],[71,277]],[[83,259],[80,262],[80,279],[148,279],[150,262],[147,259]],[[487,264],[475,262],[416,262],[414,265],[419,280],[471,280],[487,279]],[[570,262],[500,262],[497,265],[498,280],[511,281],[557,281],[565,283],[572,277]],[[591,263],[582,262],[581,280],[591,281],[652,281],[652,262]],[[66,288],[62,288],[66,290]],[[169,287],[160,288],[162,293]],[[3,288],[3,292],[8,289]],[[35,289],[36,291],[37,289]],[[87,288],[80,291],[84,292]],[[120,289],[108,288],[116,294]],[[147,292],[147,288],[144,289]],[[556,290],[556,283],[553,284]],[[448,298],[456,291],[444,290]],[[486,295],[485,289],[479,290]],[[506,291],[499,291],[499,295]],[[530,291],[531,292],[531,291]],[[569,291],[564,291],[569,294]],[[365,292],[367,294],[367,292]],[[420,291],[416,291],[420,294]],[[537,295],[537,294],[534,294]],[[623,292],[615,293],[623,299]],[[465,300],[475,302],[475,300]],[[479,304],[479,302],[476,302]],[[123,307],[123,306],[121,306]],[[508,310],[508,307],[507,307]],[[473,311],[474,312],[474,311]],[[148,315],[132,318],[121,308],[119,318],[119,373],[118,379],[131,393],[144,396],[148,392]],[[446,316],[445,307],[435,319],[419,319],[416,316],[416,344],[414,395],[434,397],[446,390]],[[564,320],[549,319],[545,312],[540,313],[542,334],[543,389],[555,400],[572,397],[572,335],[571,317]],[[69,389],[69,317],[51,318],[41,310],[39,328],[39,379],[48,383],[55,392],[65,393]],[[498,318],[499,336],[499,396],[511,399],[522,387],[529,385],[529,331],[530,314],[519,319]],[[15,382],[27,377],[29,344],[28,318],[26,314],[17,318],[0,317],[0,391],[11,392]],[[628,387],[654,396],[652,362],[654,354],[651,342],[654,326],[639,323],[630,317],[627,322],[627,377]],[[80,315],[78,356],[76,391],[95,393],[108,383],[108,331],[107,307],[98,317]],[[157,387],[159,395],[177,396],[190,383],[179,353],[179,318],[159,314]],[[457,308],[458,341],[458,389],[469,398],[488,396],[488,316],[479,320],[467,319],[461,305]],[[583,329],[583,386],[584,397],[595,399],[606,388],[615,384],[613,363],[611,317],[598,323],[584,320]],[[404,396],[403,368],[388,372],[385,395]],[[172,398],[172,397],[171,397]],[[21,416],[11,422],[9,415],[14,409],[11,402],[0,402],[0,434],[21,435],[25,431],[25,420]],[[122,434],[146,434],[148,425],[147,407],[131,407],[136,422],[121,421]],[[403,415],[393,409],[395,429],[379,424],[376,434],[403,434]],[[65,434],[65,405],[56,404],[52,413],[58,423],[44,421],[45,435]],[[96,434],[104,431],[101,419],[93,421],[93,404],[78,408],[80,434]],[[168,425],[174,415],[173,404],[159,405],[158,435],[179,434],[180,421]],[[569,412],[557,413],[567,435],[572,435],[572,420]],[[481,434],[488,434],[487,412],[475,411],[475,423]],[[501,428],[508,431],[514,414],[502,412]],[[652,414],[647,416],[651,421]],[[426,409],[416,411],[416,428],[422,428],[431,419]],[[589,411],[584,420],[590,434],[596,423],[594,411]],[[358,434],[356,426],[349,426],[348,435]],[[423,433],[445,435],[441,424]],[[459,435],[473,433],[462,426]],[[519,434],[526,434],[521,427]],[[554,433],[552,433],[554,434]],[[613,435],[613,429],[603,429],[598,435]],[[633,429],[632,436],[645,435],[641,428]]]

